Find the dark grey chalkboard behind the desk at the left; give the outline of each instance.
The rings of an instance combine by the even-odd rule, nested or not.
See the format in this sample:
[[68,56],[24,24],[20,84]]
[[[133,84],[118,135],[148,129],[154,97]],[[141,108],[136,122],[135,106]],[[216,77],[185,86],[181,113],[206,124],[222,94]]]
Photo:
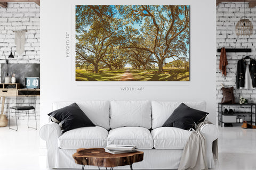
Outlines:
[[[40,64],[8,64],[9,77],[12,73],[16,74],[16,83],[21,84],[21,88],[25,87],[26,77],[40,77]],[[7,75],[7,64],[1,64],[1,82]]]

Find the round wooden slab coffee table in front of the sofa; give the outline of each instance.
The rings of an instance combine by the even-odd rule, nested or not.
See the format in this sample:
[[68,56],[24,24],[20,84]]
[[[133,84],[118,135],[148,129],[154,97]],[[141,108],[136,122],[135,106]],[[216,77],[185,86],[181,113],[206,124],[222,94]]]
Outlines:
[[143,160],[143,152],[129,152],[124,154],[109,154],[104,148],[77,149],[73,154],[76,164],[81,164],[82,170],[85,165],[100,167],[110,167],[110,170],[116,166],[130,165]]

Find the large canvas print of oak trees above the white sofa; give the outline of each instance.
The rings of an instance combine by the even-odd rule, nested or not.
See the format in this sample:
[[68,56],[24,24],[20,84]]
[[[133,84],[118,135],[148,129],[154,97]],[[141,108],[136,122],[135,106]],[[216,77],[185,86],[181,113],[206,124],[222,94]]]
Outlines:
[[76,5],[76,81],[189,81],[189,5]]

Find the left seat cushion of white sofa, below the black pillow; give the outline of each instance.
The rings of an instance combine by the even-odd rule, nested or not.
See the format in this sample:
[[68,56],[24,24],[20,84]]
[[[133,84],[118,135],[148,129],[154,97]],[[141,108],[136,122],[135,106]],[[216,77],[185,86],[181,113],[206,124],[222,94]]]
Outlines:
[[62,149],[103,148],[107,146],[108,131],[100,126],[77,128],[63,133],[58,139]]

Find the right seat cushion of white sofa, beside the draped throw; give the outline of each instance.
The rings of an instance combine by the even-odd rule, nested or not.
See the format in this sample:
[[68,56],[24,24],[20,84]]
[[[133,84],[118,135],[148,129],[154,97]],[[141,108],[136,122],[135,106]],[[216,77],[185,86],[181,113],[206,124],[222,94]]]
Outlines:
[[183,149],[192,131],[161,127],[151,131],[156,149]]

